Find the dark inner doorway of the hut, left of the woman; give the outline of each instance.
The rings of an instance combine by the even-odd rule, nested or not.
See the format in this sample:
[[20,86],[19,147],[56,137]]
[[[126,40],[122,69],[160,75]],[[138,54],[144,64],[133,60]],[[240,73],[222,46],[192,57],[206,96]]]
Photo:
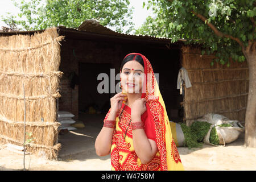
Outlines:
[[105,79],[101,76],[108,75],[105,86],[110,88],[110,68],[111,64],[107,63],[79,63],[79,121],[85,126],[101,127],[108,113],[110,92],[101,93],[104,86],[99,84]]

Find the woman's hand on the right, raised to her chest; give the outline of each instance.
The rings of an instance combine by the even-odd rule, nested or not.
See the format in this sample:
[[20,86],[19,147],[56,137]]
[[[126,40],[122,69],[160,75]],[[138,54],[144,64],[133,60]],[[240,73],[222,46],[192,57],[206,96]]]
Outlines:
[[[131,106],[131,117],[132,118],[141,118],[141,115],[147,110],[146,107],[146,98],[138,98],[134,101]],[[133,121],[133,119],[131,119]]]

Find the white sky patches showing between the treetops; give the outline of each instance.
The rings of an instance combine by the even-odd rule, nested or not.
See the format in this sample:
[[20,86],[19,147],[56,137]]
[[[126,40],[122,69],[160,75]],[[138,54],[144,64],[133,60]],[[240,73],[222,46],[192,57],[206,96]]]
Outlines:
[[[133,22],[135,24],[135,29],[139,28],[143,24],[148,15],[153,15],[151,9],[147,10],[146,6],[143,9],[143,2],[146,2],[146,0],[130,0],[130,6],[134,7]],[[7,12],[18,16],[19,9],[13,5],[11,0],[0,0],[0,19],[1,15],[5,16]],[[2,26],[7,25],[0,20],[0,28]]]

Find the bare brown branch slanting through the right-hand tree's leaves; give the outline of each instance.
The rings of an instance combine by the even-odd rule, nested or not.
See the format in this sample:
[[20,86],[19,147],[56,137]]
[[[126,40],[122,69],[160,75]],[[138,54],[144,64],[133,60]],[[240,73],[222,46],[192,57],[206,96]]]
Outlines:
[[210,27],[213,30],[214,34],[216,34],[217,36],[220,36],[221,38],[225,37],[232,40],[236,40],[236,42],[242,47],[242,50],[245,50],[245,47],[243,46],[243,43],[241,42],[240,39],[234,38],[231,35],[224,34],[223,32],[219,31],[212,23],[209,23],[207,18],[205,18],[203,15],[195,13],[195,11],[192,11],[192,13],[195,14],[198,18],[200,18],[203,22],[205,22],[206,20],[207,21],[206,24],[208,25],[208,27]]

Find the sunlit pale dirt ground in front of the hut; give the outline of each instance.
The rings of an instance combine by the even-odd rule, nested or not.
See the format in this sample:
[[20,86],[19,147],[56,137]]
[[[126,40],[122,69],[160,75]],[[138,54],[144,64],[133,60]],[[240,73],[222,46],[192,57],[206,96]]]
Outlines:
[[[0,170],[23,169],[23,155],[0,146]],[[256,170],[256,148],[244,147],[243,138],[225,147],[205,145],[203,148],[178,148],[185,170]],[[29,166],[30,165],[30,166]],[[110,170],[110,156],[98,157],[95,152],[82,152],[57,160],[26,155],[26,168],[32,170]]]

